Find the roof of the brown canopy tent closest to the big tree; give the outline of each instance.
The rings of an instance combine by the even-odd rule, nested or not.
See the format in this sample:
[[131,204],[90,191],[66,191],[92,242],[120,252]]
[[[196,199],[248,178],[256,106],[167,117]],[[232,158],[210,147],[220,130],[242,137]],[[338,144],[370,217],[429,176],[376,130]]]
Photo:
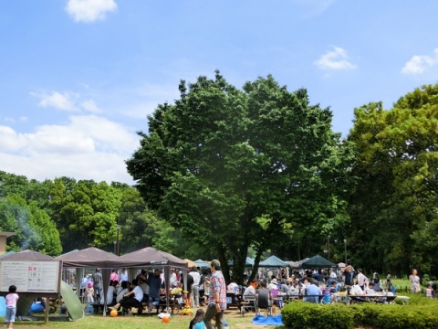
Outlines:
[[152,247],[132,251],[120,256],[116,260],[110,261],[110,264],[112,264],[112,267],[114,268],[171,265],[187,269],[187,261],[179,259],[168,252]]

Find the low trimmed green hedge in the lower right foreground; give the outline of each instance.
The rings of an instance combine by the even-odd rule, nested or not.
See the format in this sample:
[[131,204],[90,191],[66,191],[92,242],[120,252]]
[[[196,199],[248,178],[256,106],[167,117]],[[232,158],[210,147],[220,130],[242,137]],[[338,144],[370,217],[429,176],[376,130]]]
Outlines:
[[415,300],[407,305],[298,301],[289,302],[281,313],[283,324],[291,329],[353,329],[358,326],[379,329],[438,328],[438,303]]

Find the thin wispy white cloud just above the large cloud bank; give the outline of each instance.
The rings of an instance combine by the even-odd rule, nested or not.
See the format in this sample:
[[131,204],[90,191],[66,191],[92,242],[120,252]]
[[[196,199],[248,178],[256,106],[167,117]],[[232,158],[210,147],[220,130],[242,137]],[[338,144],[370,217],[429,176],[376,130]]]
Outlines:
[[80,94],[70,91],[52,91],[51,93],[31,92],[40,101],[38,105],[44,108],[55,108],[63,111],[90,111],[99,113],[101,110],[93,100],[84,100]]

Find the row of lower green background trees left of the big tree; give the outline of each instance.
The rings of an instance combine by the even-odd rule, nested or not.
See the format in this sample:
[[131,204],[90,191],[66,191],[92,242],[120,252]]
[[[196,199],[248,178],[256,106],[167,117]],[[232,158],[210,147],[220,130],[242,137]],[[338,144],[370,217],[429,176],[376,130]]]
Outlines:
[[[8,250],[48,255],[94,246],[120,253],[172,247],[172,228],[148,210],[140,193],[120,183],[60,177],[38,182],[0,172],[0,230],[16,232]],[[165,233],[165,234],[164,234]]]

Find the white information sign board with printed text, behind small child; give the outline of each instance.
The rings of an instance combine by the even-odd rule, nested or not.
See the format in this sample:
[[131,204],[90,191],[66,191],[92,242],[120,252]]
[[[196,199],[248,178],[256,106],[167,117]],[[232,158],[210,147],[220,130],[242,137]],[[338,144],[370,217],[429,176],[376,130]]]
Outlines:
[[0,261],[0,291],[7,292],[10,285],[16,292],[59,291],[60,261],[2,260]]

